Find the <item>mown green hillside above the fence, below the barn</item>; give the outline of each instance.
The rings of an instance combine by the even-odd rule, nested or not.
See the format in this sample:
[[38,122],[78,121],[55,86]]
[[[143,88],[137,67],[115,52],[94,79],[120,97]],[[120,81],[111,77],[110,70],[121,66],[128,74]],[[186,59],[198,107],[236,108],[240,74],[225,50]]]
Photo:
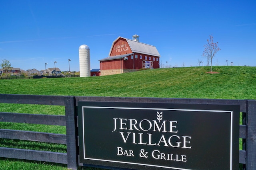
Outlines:
[[1,94],[255,99],[256,67],[160,68],[111,76],[0,80]]

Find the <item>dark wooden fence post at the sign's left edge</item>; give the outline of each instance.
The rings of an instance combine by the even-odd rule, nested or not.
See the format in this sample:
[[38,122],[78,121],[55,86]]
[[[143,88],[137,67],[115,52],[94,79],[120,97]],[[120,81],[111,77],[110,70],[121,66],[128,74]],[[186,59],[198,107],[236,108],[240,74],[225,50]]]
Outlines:
[[67,157],[68,169],[76,170],[78,168],[78,154],[76,149],[76,125],[75,125],[75,97],[66,96],[65,115],[66,115],[66,141],[67,141]]

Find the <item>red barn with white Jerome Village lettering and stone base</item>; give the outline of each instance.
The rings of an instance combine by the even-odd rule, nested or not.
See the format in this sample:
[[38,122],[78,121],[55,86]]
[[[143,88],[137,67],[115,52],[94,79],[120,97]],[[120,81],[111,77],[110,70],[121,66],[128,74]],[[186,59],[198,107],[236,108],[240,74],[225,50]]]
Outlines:
[[134,72],[140,68],[159,68],[159,58],[155,46],[140,43],[139,36],[131,39],[118,37],[113,43],[109,57],[100,61],[100,75]]

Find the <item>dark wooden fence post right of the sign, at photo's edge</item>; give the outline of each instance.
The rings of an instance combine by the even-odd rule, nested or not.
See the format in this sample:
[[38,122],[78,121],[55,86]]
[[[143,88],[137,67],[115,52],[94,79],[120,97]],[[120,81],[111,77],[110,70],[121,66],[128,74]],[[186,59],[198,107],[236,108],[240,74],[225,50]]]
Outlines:
[[246,106],[246,170],[256,169],[256,100]]

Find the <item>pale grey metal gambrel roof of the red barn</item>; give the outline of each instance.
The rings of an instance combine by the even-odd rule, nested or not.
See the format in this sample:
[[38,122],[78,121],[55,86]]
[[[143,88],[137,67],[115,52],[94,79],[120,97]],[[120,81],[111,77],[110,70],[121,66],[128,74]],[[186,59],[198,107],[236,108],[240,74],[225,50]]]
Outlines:
[[[109,52],[109,56],[111,54],[111,51],[114,47],[114,43],[120,39],[120,38],[123,38],[123,37],[118,37],[113,43],[112,43],[112,46],[111,46],[111,49],[110,49],[110,52]],[[146,54],[146,55],[154,55],[154,56],[157,56],[157,57],[161,57],[160,54],[158,53],[157,49],[155,46],[153,45],[148,45],[148,44],[145,44],[145,43],[141,43],[141,42],[138,42],[138,41],[133,41],[131,39],[127,39],[127,38],[123,38],[123,39],[126,39],[128,45],[130,46],[130,49],[132,50],[133,53],[142,53],[142,54]]]

